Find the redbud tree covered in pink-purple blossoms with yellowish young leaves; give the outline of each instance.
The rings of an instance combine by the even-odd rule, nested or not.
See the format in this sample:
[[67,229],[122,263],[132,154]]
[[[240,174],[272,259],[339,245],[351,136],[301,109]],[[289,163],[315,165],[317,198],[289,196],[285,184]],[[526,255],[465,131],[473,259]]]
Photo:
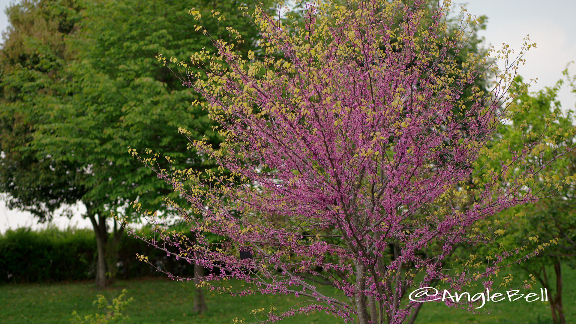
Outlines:
[[[185,85],[202,93],[195,104],[210,112],[224,140],[218,147],[191,140],[190,148],[219,165],[205,172],[162,168],[160,153],[146,149],[142,162],[190,203],[165,199],[192,237],[166,231],[145,210],[158,236],[143,239],[158,248],[175,244],[175,257],[210,269],[195,278],[199,287],[308,297],[286,311],[271,307],[264,322],[320,310],[360,324],[402,323],[419,304],[403,296],[434,280],[492,289],[515,250],[501,249],[483,267],[471,258],[447,271],[444,261],[458,244],[488,244],[505,233],[497,224],[480,231],[486,217],[548,194],[533,183],[571,150],[555,145],[556,137],[574,130],[532,136],[500,168],[487,167],[510,145],[494,134],[526,108],[509,92],[524,60],[522,53],[509,58],[505,46],[490,51],[507,62],[503,70],[484,69],[489,59],[473,54],[456,63],[453,53],[478,21],[463,16],[460,29],[448,31],[448,5],[302,3],[304,19],[294,22],[257,9],[260,53],[240,56],[242,40],[228,29],[230,41],[218,40],[217,52],[196,53],[188,63],[170,58],[186,71]],[[462,96],[482,74],[492,75],[493,91],[472,87]],[[550,190],[576,180],[541,178]],[[236,291],[228,278],[250,285]],[[322,283],[342,294],[325,295]]]

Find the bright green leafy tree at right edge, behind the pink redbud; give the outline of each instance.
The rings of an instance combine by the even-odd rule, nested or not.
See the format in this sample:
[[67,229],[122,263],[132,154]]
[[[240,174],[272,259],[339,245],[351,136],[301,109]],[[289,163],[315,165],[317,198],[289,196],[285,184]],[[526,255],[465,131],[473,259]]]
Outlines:
[[[564,71],[567,76],[567,70]],[[573,111],[562,112],[560,102],[556,99],[563,80],[560,80],[553,87],[529,93],[528,89],[522,86],[522,78],[518,77],[514,85],[514,91],[519,94],[514,104],[524,107],[520,114],[511,119],[510,125],[506,125],[500,131],[500,135],[509,138],[515,148],[519,148],[524,141],[533,141],[534,135],[538,133],[558,134],[564,133],[573,125]],[[569,77],[570,81],[570,77]],[[546,123],[545,120],[550,115],[556,115],[554,123]],[[525,125],[518,131],[520,125]],[[529,133],[528,137],[525,133]],[[558,141],[556,145],[568,146],[573,142],[573,138],[567,137]],[[501,159],[511,159],[512,154],[507,150],[502,150]],[[576,171],[574,165],[574,152],[568,153],[564,159],[554,161],[547,165],[547,171],[557,174],[560,179],[564,179],[562,189],[555,191],[555,195],[542,199],[535,204],[518,206],[496,215],[488,221],[502,221],[503,224],[511,221],[503,229],[508,235],[503,236],[501,241],[505,246],[522,246],[526,242],[531,242],[537,246],[543,242],[554,242],[551,246],[539,251],[537,257],[527,259],[519,263],[516,268],[524,270],[530,276],[534,276],[537,281],[547,289],[548,300],[550,302],[552,321],[554,323],[565,323],[562,307],[562,264],[574,266],[576,257],[576,218],[574,216],[574,189],[575,184],[571,182],[569,176]],[[535,160],[538,163],[537,160]],[[494,168],[499,165],[493,163]],[[540,183],[539,186],[545,186]],[[515,214],[523,215],[520,218]],[[522,251],[516,258],[521,259],[526,254],[532,253],[533,249]],[[486,253],[486,252],[484,252]],[[555,284],[552,284],[552,276],[555,275]]]

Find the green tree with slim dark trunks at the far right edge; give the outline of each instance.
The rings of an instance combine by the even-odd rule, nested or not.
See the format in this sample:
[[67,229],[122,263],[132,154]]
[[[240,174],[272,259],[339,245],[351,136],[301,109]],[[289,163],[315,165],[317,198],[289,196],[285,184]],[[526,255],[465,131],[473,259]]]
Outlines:
[[[567,73],[567,71],[564,71]],[[539,131],[544,128],[543,116],[555,113],[559,116],[558,122],[550,127],[550,133],[563,132],[572,125],[573,112],[562,114],[559,101],[556,99],[562,82],[554,87],[547,87],[536,93],[526,91],[518,98],[520,103],[530,106],[525,114],[518,115],[514,123],[526,123],[530,131]],[[566,141],[572,141],[568,138]],[[562,142],[559,145],[564,145]],[[530,238],[535,244],[554,242],[542,250],[536,258],[530,258],[518,264],[518,267],[528,274],[533,274],[537,281],[547,289],[550,311],[554,323],[566,323],[562,305],[562,263],[574,265],[576,257],[576,183],[569,176],[576,173],[576,155],[570,152],[566,159],[556,161],[550,165],[551,171],[560,175],[566,183],[556,194],[537,204],[525,207],[525,216],[513,221],[511,228],[514,243],[520,243]],[[552,270],[553,269],[553,270]],[[555,274],[555,284],[552,284],[552,271]]]

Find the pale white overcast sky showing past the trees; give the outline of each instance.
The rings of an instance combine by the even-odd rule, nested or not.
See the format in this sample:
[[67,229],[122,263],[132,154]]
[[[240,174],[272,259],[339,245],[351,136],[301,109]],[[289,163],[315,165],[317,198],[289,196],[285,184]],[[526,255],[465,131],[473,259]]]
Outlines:
[[[137,0],[135,0],[137,1]],[[14,1],[12,1],[14,2]],[[460,1],[454,1],[460,2]],[[0,0],[0,8],[9,5],[9,0]],[[537,43],[537,48],[530,50],[524,56],[526,65],[520,69],[520,74],[528,80],[538,78],[538,83],[531,90],[536,91],[544,86],[553,86],[560,77],[567,62],[576,61],[576,1],[574,0],[470,0],[467,4],[468,13],[476,16],[488,16],[487,29],[480,31],[486,37],[486,42],[494,47],[509,44],[511,48],[520,50],[522,39],[528,34],[530,42]],[[0,13],[0,30],[6,29],[6,16]],[[570,69],[576,73],[576,67]],[[564,109],[574,109],[576,97],[564,86],[559,99]],[[91,227],[88,220],[79,216],[85,212],[84,206],[75,206],[77,214],[67,218],[55,218],[54,224],[60,228],[68,225]],[[7,210],[0,201],[0,233],[7,228],[31,226],[39,228],[31,215]]]

